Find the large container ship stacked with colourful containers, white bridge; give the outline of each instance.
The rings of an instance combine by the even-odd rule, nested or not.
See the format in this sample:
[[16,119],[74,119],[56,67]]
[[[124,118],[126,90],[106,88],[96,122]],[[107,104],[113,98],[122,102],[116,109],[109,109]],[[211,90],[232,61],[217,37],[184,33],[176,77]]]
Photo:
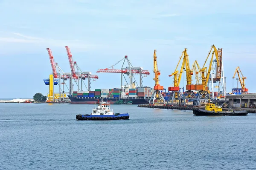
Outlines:
[[[98,100],[106,101],[114,104],[116,101],[122,100],[132,104],[148,104],[154,88],[137,87],[135,84],[121,86],[121,89],[95,89],[94,91],[74,91],[72,95],[68,95],[71,104],[96,104]],[[164,94],[165,95],[165,94]]]

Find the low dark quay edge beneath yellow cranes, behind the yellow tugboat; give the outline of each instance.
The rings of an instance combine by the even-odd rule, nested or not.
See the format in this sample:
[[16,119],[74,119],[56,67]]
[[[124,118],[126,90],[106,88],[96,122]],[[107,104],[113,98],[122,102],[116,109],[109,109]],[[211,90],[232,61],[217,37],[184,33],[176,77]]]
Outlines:
[[[138,105],[138,107],[145,107],[145,108],[153,108],[153,109],[176,109],[176,110],[193,110],[198,107],[193,107],[193,106],[163,106],[163,105],[148,105],[148,104],[141,104]],[[201,107],[201,109],[204,109],[204,106]],[[226,110],[247,110],[248,113],[256,113],[256,109],[252,108],[222,108],[223,111]]]

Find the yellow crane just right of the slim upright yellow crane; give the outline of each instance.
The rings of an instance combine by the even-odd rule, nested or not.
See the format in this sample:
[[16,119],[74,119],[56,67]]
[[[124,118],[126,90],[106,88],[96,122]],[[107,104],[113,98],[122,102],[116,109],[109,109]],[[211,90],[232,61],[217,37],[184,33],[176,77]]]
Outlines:
[[[180,93],[180,80],[181,80],[181,75],[183,73],[183,70],[185,69],[185,59],[183,58],[184,56],[184,52],[182,52],[181,56],[180,56],[180,60],[175,68],[175,71],[169,75],[169,77],[174,76],[174,86],[170,86],[168,87],[168,91],[171,91],[169,98],[167,99],[167,104],[169,104],[169,101],[171,101],[172,105],[174,101],[179,101],[178,103],[180,104],[180,100],[182,98],[182,94]],[[180,67],[180,72],[177,70],[181,59],[182,60],[182,64]]]

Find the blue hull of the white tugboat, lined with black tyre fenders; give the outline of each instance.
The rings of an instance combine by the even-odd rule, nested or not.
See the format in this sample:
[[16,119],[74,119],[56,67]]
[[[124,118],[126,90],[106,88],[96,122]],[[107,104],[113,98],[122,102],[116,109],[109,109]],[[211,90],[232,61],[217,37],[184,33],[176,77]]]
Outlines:
[[120,120],[120,119],[129,119],[130,115],[125,114],[115,114],[115,115],[76,115],[77,120]]

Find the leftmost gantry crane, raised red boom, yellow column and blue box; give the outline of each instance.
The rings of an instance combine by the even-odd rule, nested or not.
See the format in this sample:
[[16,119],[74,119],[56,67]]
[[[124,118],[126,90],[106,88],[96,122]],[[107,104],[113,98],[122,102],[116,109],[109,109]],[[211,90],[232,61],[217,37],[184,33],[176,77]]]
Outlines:
[[[49,101],[54,101],[54,99],[57,98],[57,97],[59,98],[59,100],[61,100],[61,97],[64,99],[64,97],[66,96],[64,94],[64,84],[65,84],[64,81],[66,81],[68,78],[70,78],[70,76],[66,75],[62,71],[62,69],[58,66],[58,63],[55,63],[54,57],[52,55],[52,50],[47,48],[47,52],[48,52],[48,55],[49,55],[51,66],[52,66],[52,75],[49,75],[49,79],[45,79],[44,80],[44,83],[46,85],[49,85],[49,95],[48,95],[48,98],[49,98]],[[58,68],[59,74],[57,73],[57,69],[56,68]],[[62,75],[61,75],[61,72],[63,73]],[[59,82],[61,81],[61,79],[63,80],[62,83],[59,84],[59,96],[54,94],[54,85],[58,84],[58,80],[54,80],[54,78],[59,78]],[[63,85],[62,90],[61,90],[61,84]],[[62,96],[61,96],[61,92],[62,92]]]

